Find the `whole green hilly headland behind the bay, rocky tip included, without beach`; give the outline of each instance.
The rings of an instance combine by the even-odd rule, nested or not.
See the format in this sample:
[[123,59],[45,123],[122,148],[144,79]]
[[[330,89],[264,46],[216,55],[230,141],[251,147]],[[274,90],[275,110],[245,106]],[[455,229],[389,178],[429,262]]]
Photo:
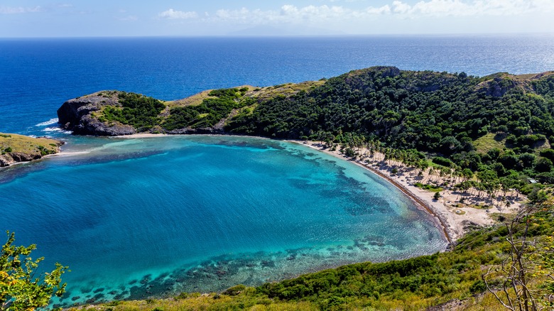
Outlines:
[[374,142],[451,158],[460,168],[511,170],[554,182],[554,72],[530,75],[354,70],[329,80],[237,87],[162,102],[104,91],[58,109],[74,133],[236,133]]

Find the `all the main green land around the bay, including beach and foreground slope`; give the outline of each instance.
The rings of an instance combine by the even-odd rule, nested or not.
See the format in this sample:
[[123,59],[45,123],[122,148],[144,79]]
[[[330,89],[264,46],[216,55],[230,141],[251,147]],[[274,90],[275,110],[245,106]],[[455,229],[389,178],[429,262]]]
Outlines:
[[[358,263],[258,288],[182,293],[147,307],[123,302],[117,310],[137,304],[141,310],[499,310],[496,305],[508,300],[552,302],[552,107],[554,72],[472,77],[371,67],[328,80],[208,90],[171,102],[102,91],[65,102],[58,119],[80,135],[218,133],[299,140],[354,160],[420,198],[452,238],[450,252]],[[525,204],[521,195],[528,198]],[[453,214],[473,215],[489,227],[478,229],[471,221],[449,226]],[[532,301],[529,288],[537,293]],[[499,297],[503,290],[506,297]]]

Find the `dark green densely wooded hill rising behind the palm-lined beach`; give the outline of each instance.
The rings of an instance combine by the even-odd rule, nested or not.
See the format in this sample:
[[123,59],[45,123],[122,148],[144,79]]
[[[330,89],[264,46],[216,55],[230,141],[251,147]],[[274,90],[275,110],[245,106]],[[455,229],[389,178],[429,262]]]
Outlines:
[[262,102],[235,116],[227,130],[322,140],[357,133],[447,155],[471,151],[472,141],[487,133],[508,133],[509,141],[531,147],[554,135],[552,74],[479,78],[371,67]]

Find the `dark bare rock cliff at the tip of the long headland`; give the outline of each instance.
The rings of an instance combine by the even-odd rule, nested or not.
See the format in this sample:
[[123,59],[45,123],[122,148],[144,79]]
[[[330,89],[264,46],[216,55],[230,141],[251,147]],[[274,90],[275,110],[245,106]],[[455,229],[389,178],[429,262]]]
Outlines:
[[116,95],[97,92],[70,99],[58,109],[58,123],[63,129],[79,135],[119,136],[136,133],[136,129],[130,125],[99,121],[94,111],[107,106],[121,107]]

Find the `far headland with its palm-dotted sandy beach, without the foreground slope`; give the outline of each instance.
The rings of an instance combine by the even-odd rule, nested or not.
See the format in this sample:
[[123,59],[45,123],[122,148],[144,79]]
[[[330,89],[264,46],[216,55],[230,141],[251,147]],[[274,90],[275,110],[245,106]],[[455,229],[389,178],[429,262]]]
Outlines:
[[[552,107],[554,72],[472,77],[370,67],[328,80],[213,89],[170,102],[102,91],[65,102],[58,119],[64,129],[85,135],[217,133],[310,141],[381,176],[396,175],[396,185],[406,184],[414,200],[426,197],[423,206],[444,201],[451,212],[472,218],[469,223],[484,225],[489,207],[516,209],[520,194],[554,182]],[[442,194],[433,199],[435,192]],[[454,239],[467,227],[453,225],[448,212],[435,209],[435,215]]]

